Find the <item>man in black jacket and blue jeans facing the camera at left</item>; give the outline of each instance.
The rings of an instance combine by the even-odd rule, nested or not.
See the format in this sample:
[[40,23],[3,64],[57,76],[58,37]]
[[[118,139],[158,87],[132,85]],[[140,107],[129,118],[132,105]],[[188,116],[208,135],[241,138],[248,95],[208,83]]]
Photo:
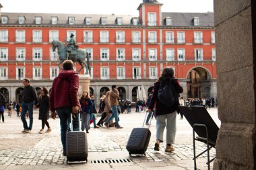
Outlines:
[[[21,120],[23,123],[24,130],[22,133],[31,133],[33,126],[33,105],[36,108],[36,104],[38,103],[36,89],[30,85],[30,79],[26,78],[23,80],[24,90],[22,91],[22,114]],[[26,121],[25,115],[28,112],[28,116],[30,118],[30,125]]]

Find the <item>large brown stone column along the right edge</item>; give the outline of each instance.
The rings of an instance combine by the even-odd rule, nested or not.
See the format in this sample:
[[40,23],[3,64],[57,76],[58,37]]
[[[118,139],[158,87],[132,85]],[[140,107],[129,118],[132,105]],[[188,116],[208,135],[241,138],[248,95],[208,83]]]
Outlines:
[[214,1],[218,117],[214,169],[256,169],[256,1]]

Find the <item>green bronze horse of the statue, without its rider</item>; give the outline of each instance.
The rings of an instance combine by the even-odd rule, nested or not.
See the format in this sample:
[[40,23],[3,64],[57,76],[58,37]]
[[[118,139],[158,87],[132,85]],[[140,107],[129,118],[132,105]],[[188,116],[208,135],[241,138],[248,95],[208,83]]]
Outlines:
[[79,65],[81,65],[81,69],[79,69],[79,71],[77,71],[77,73],[79,73],[82,69],[84,69],[84,67],[86,67],[86,74],[90,74],[90,57],[88,55],[88,53],[86,52],[86,50],[84,49],[77,49],[76,50],[76,54],[71,54],[69,55],[69,58],[67,58],[67,47],[65,46],[65,44],[61,41],[55,41],[53,40],[52,42],[53,45],[53,51],[56,50],[56,48],[58,48],[58,54],[59,54],[59,62],[58,62],[58,67],[61,69],[61,63],[64,60],[72,60],[73,62],[78,62]]

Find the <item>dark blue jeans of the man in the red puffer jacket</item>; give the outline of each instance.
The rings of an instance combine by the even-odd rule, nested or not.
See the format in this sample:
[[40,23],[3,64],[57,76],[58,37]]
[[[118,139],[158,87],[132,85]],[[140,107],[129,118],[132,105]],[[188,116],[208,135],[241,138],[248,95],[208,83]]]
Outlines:
[[[65,151],[66,148],[66,134],[69,127],[69,121],[68,119],[71,116],[71,108],[65,107],[65,108],[57,108],[57,114],[59,116],[60,125],[61,125],[61,142],[63,146],[63,151]],[[78,115],[75,115],[75,118],[73,117],[73,131],[79,131],[79,122],[78,122]]]

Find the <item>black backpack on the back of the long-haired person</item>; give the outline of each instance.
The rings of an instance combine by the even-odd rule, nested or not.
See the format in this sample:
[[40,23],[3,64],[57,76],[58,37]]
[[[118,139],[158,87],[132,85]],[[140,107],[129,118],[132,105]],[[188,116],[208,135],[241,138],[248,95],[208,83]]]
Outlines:
[[170,81],[168,81],[165,85],[162,81],[160,82],[160,88],[158,90],[158,99],[164,105],[171,107],[172,105],[174,105],[174,103],[177,103],[177,101],[179,101],[179,97],[180,95],[175,89],[172,83],[172,79],[170,79]]

